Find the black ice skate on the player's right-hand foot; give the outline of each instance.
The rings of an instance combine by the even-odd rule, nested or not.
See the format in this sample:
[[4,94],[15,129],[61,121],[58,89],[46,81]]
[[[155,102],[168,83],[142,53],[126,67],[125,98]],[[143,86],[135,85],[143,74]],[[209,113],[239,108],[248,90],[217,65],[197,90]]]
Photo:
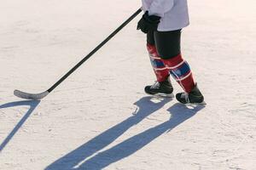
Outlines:
[[189,94],[185,92],[176,94],[176,99],[183,104],[207,104],[204,101],[204,96],[201,94],[199,88],[197,88],[197,84],[195,84],[195,88],[193,88]]

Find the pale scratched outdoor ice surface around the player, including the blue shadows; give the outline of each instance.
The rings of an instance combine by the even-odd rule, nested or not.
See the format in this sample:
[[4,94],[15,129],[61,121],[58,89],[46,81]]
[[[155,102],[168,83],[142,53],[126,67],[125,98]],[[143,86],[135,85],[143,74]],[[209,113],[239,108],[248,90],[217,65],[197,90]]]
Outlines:
[[140,5],[1,0],[1,170],[256,168],[253,0],[189,1],[183,56],[206,107],[143,93],[154,73],[139,17],[45,99],[13,95],[44,92]]

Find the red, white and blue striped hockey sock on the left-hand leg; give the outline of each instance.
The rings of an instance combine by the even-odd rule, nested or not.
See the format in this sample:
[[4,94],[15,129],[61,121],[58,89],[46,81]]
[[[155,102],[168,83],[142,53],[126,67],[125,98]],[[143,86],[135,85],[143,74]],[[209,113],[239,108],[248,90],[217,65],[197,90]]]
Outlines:
[[148,54],[151,61],[151,65],[154,69],[154,74],[156,76],[157,82],[164,82],[169,76],[169,69],[166,68],[163,59],[160,58],[157,54],[156,48],[154,45],[147,44]]

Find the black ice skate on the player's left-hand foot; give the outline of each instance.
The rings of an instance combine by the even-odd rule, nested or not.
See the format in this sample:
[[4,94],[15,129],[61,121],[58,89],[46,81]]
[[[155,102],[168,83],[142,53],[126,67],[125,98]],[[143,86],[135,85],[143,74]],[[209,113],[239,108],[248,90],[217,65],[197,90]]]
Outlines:
[[164,82],[154,82],[153,85],[146,86],[144,90],[146,94],[174,98],[174,95],[172,94],[172,83],[170,82],[169,77],[167,77]]

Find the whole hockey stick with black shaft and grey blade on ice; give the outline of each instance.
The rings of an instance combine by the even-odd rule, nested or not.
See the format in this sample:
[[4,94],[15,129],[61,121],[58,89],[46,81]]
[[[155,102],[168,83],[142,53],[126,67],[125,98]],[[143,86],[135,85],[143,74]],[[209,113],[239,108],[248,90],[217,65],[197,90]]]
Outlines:
[[105,43],[107,43],[112,37],[114,37],[119,31],[121,31],[131,20],[133,20],[138,14],[142,12],[142,9],[139,8],[134,14],[131,15],[131,17],[125,22],[119,26],[115,31],[113,31],[112,34],[110,34],[103,42],[101,42],[96,48],[94,48],[90,54],[86,55],[84,59],[82,59],[77,65],[73,66],[73,68],[66,73],[58,82],[55,82],[55,84],[50,87],[48,90],[46,90],[43,93],[40,94],[28,94],[25,92],[22,92],[20,90],[15,90],[14,94],[15,96],[22,98],[22,99],[43,99],[45,96],[47,96],[51,91],[53,91],[61,82],[63,82],[69,75],[73,73],[73,71],[76,71],[80,65],[82,65],[87,59],[89,59],[93,54],[95,54],[100,48],[102,48]]

